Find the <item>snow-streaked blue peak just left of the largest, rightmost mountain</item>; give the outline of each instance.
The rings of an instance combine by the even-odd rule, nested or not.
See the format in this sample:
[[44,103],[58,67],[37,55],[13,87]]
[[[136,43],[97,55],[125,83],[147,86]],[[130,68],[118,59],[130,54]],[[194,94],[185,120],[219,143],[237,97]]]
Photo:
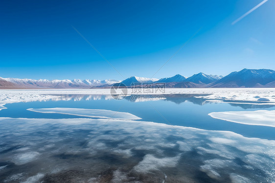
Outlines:
[[223,76],[207,75],[205,73],[200,72],[198,74],[192,75],[191,77],[188,77],[186,81],[196,83],[196,84],[209,84],[221,79],[222,77]]

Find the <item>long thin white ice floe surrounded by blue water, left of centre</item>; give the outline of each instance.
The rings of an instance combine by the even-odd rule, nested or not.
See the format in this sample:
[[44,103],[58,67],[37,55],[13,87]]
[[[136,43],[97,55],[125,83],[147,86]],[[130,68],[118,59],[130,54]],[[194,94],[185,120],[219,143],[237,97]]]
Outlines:
[[140,117],[123,112],[116,112],[110,110],[102,109],[80,109],[80,108],[42,108],[42,109],[27,109],[28,111],[38,112],[38,113],[58,113],[58,114],[69,114],[78,115],[84,117],[96,117],[96,118],[108,118],[108,119],[125,119],[125,120],[135,120],[141,119]]

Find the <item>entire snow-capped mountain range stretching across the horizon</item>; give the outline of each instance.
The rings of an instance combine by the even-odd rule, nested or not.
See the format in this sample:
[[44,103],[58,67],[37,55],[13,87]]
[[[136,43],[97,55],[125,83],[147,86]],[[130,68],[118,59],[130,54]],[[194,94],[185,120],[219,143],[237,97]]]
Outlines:
[[110,88],[112,85],[121,86],[123,83],[131,87],[133,83],[165,83],[166,88],[275,88],[275,70],[271,69],[242,69],[231,72],[223,77],[218,75],[207,75],[205,73],[194,74],[184,77],[177,74],[173,77],[161,79],[132,76],[123,81],[114,79],[91,80],[91,79],[17,79],[1,78],[1,89],[90,89]]

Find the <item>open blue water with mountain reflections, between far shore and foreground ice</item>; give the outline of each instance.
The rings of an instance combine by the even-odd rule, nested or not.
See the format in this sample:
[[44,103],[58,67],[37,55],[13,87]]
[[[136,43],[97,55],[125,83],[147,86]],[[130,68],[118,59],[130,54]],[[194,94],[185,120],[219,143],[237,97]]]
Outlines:
[[[214,119],[208,114],[225,111],[275,110],[274,105],[213,103],[199,94],[165,94],[164,100],[135,101],[131,96],[115,100],[110,95],[64,95],[56,100],[6,104],[0,117],[24,118],[80,118],[68,114],[43,114],[27,111],[29,108],[83,108],[127,112],[140,117],[141,121],[152,121],[169,125],[194,127],[205,130],[231,131],[245,137],[275,140],[273,127],[244,125]],[[236,101],[235,101],[236,102]],[[253,102],[255,103],[255,102]]]

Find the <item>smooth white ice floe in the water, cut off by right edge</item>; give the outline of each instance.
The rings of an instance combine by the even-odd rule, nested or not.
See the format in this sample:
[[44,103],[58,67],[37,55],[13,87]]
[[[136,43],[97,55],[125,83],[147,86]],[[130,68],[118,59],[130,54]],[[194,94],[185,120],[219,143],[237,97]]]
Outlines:
[[275,127],[275,111],[231,111],[209,113],[208,115],[235,123]]

